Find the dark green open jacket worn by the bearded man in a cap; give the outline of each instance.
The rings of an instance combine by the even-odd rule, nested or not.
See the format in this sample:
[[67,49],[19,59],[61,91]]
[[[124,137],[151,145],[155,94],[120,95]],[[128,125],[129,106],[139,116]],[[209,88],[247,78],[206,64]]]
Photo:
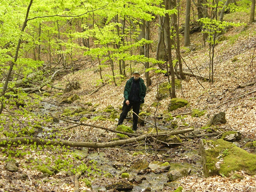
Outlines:
[[[130,90],[132,88],[133,77],[128,79],[126,82],[126,86],[124,87],[124,103],[128,100],[130,95]],[[140,82],[140,90],[139,90],[139,97],[140,103],[144,103],[144,97],[146,96],[146,85],[144,84],[144,80],[139,78]]]

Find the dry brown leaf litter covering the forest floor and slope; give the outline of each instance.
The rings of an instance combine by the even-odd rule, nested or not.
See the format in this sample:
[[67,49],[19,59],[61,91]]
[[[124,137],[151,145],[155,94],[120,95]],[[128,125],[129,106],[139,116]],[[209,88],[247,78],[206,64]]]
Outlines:
[[[234,37],[239,38],[233,41]],[[238,86],[247,84],[256,80],[256,65],[254,60],[255,47],[256,47],[256,34],[255,24],[249,25],[247,28],[234,27],[231,28],[225,36],[226,40],[222,41],[215,47],[214,57],[214,83],[206,82],[202,79],[194,78],[193,76],[187,76],[186,80],[182,80],[182,89],[176,90],[176,96],[178,98],[184,98],[190,103],[187,107],[183,107],[173,111],[173,114],[180,114],[190,112],[192,109],[206,110],[206,114],[201,117],[191,117],[187,115],[183,121],[180,121],[178,128],[182,129],[184,121],[188,124],[187,127],[193,127],[195,129],[203,127],[209,119],[218,112],[225,112],[227,122],[220,124],[221,130],[235,130],[239,131],[242,135],[244,142],[248,140],[256,140],[256,84],[252,86],[246,86],[239,89]],[[200,42],[201,33],[195,33],[191,37],[194,41]],[[193,42],[191,40],[191,42]],[[208,48],[200,48],[190,53],[183,52],[183,59],[186,65],[193,70],[193,73],[198,74],[199,70],[202,76],[209,76],[209,55]],[[188,68],[183,65],[183,69],[188,71]],[[73,90],[66,94],[77,94],[80,97],[74,105],[82,105],[87,102],[91,102],[92,105],[98,104],[97,110],[103,110],[108,105],[112,105],[114,108],[119,109],[123,103],[123,89],[126,81],[119,82],[117,86],[113,84],[106,84],[93,93],[100,85],[98,79],[100,75],[95,72],[97,66],[92,66],[88,69],[76,71],[74,74],[68,74],[57,82],[57,86],[66,85],[68,80],[77,80],[80,82],[81,88],[79,90]],[[137,70],[143,71],[143,68]],[[104,71],[103,73],[110,73]],[[128,72],[129,73],[129,72]],[[167,110],[167,106],[170,102],[170,97],[160,101],[158,109],[151,107],[151,105],[157,101],[156,92],[157,87],[161,82],[166,82],[167,77],[163,74],[152,76],[152,85],[149,87],[149,91],[145,97],[145,104],[143,110],[151,112],[151,116],[160,116]],[[128,75],[129,76],[129,75]],[[141,75],[144,79],[144,75]],[[145,80],[145,79],[144,79]],[[252,92],[251,94],[248,94]],[[247,95],[245,95],[247,94]],[[242,96],[244,95],[244,96]],[[239,97],[241,96],[241,97]],[[239,98],[238,98],[239,97]],[[58,101],[59,98],[56,98]],[[233,100],[232,100],[233,99]],[[225,103],[226,102],[226,103]],[[225,103],[225,104],[224,104]],[[90,122],[90,120],[88,120]],[[116,122],[111,121],[98,121],[97,125],[114,128]],[[82,126],[81,126],[82,127]],[[144,130],[142,126],[138,127],[138,130]],[[85,126],[73,133],[71,138],[75,141],[86,140],[88,128]],[[93,129],[89,137],[92,140],[96,140],[96,135],[99,134],[97,129]],[[64,134],[63,134],[64,135]],[[72,136],[72,135],[71,135]],[[113,135],[112,135],[113,136]],[[70,132],[65,135],[66,138],[70,137]],[[109,136],[111,137],[111,135]],[[196,139],[191,146],[189,144],[184,145],[186,148],[198,149],[199,140]],[[241,147],[243,143],[241,142]],[[176,148],[179,150],[180,148]],[[189,150],[188,149],[188,150]],[[101,149],[100,149],[101,150]],[[251,151],[256,153],[256,151]],[[54,153],[54,151],[52,152]],[[106,156],[112,156],[113,159],[122,159],[119,155],[121,152],[114,154],[113,151],[105,150],[104,153],[108,153]],[[126,151],[126,153],[128,153]],[[113,156],[117,155],[117,156]],[[27,159],[31,156],[27,156]],[[45,159],[45,156],[38,157],[39,159]],[[131,161],[127,157],[127,161]],[[154,158],[152,158],[154,159]],[[4,157],[1,154],[1,170],[4,170]],[[178,157],[176,158],[177,161]],[[33,184],[29,180],[17,179],[15,173],[9,173],[8,171],[1,171],[0,174],[0,192],[3,191],[73,191],[73,178],[74,175],[65,175],[61,172],[55,176],[46,178],[40,178],[39,172],[35,170],[27,170],[28,168],[20,168],[22,174],[30,175]],[[20,174],[20,175],[22,175]],[[238,192],[238,191],[256,191],[256,177],[246,175],[244,172],[240,172],[240,175],[244,176],[243,180],[231,181],[228,177],[212,176],[205,178],[202,175],[190,175],[183,177],[178,181],[179,186],[182,186],[185,191],[193,192]],[[38,182],[34,182],[34,180]],[[40,181],[40,182],[39,182]],[[39,187],[40,186],[40,187]],[[15,190],[16,187],[16,190]],[[80,182],[81,190],[90,191],[85,183]],[[168,191],[168,190],[165,190]]]

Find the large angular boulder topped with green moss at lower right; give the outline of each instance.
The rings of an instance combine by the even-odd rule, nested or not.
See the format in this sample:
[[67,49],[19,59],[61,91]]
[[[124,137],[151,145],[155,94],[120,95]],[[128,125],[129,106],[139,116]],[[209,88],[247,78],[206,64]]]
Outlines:
[[199,155],[205,177],[221,175],[229,177],[236,171],[256,174],[256,155],[235,146],[223,139],[201,139]]

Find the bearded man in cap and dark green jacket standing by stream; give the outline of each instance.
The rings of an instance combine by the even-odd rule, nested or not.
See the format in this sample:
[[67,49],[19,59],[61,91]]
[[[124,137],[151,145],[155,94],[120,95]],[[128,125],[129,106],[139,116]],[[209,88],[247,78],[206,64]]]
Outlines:
[[[124,102],[122,107],[122,113],[120,115],[117,125],[123,124],[124,118],[126,118],[127,113],[130,108],[136,114],[139,114],[140,103],[144,103],[144,97],[146,96],[146,86],[144,80],[140,78],[139,71],[134,71],[133,77],[126,82],[124,87]],[[133,131],[137,132],[138,116],[133,113]]]

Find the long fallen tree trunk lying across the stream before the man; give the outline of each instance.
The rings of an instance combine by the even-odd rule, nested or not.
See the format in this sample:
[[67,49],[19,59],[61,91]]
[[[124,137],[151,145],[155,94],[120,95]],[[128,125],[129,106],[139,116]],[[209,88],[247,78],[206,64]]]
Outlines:
[[[178,135],[184,134],[187,132],[193,131],[193,128],[188,128],[184,130],[175,130],[170,133],[169,135]],[[30,145],[30,144],[37,144],[37,145],[54,145],[54,146],[70,146],[70,147],[86,147],[86,148],[107,148],[107,147],[115,147],[119,145],[134,143],[138,141],[145,140],[147,137],[153,137],[156,134],[144,134],[140,135],[139,137],[134,137],[130,139],[118,140],[113,142],[104,142],[104,143],[91,143],[91,142],[74,142],[74,141],[66,141],[66,140],[50,140],[50,139],[39,139],[35,137],[16,137],[16,138],[1,138],[0,139],[0,147],[6,146],[15,146],[15,145]],[[164,134],[166,135],[166,134]]]

